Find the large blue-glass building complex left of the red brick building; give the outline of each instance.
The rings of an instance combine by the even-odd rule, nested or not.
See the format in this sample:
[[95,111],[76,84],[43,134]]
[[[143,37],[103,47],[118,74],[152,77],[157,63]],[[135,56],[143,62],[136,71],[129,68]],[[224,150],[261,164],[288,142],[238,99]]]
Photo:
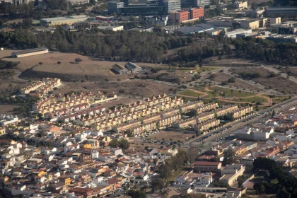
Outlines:
[[109,1],[108,13],[125,15],[163,15],[170,11],[178,11],[181,8],[180,0],[153,0],[153,1]]

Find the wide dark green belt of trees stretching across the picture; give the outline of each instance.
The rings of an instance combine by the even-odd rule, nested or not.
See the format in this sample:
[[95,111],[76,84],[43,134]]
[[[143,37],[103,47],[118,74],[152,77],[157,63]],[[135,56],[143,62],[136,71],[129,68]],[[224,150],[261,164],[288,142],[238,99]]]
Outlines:
[[[243,58],[262,62],[296,65],[297,45],[274,43],[262,39],[230,39],[222,35],[206,34],[189,36],[166,33],[139,33],[138,31],[110,32],[98,29],[69,32],[57,28],[54,33],[33,34],[29,30],[16,29],[13,34],[0,33],[4,47],[13,44],[18,48],[44,46],[59,52],[104,57],[132,62],[178,63],[203,62],[217,57]],[[234,49],[232,50],[232,47]],[[175,52],[165,56],[168,50]]]

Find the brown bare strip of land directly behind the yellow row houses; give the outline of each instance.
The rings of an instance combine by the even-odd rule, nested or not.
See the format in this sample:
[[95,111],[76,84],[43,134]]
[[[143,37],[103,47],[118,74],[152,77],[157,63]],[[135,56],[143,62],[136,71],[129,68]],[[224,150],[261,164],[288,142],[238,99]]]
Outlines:
[[67,93],[69,91],[106,91],[107,93],[117,93],[124,91],[120,95],[144,95],[151,97],[152,95],[161,95],[163,93],[171,93],[172,86],[166,86],[161,83],[150,81],[119,81],[109,83],[66,83],[59,88],[59,93]]

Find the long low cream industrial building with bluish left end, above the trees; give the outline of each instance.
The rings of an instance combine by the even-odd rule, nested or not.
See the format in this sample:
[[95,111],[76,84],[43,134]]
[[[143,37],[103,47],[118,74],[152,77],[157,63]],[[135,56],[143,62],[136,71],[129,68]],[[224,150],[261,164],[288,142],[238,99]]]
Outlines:
[[79,16],[66,16],[66,17],[55,17],[55,18],[41,18],[40,25],[50,27],[58,25],[73,25],[74,23],[79,23],[87,21],[88,16],[79,15]]

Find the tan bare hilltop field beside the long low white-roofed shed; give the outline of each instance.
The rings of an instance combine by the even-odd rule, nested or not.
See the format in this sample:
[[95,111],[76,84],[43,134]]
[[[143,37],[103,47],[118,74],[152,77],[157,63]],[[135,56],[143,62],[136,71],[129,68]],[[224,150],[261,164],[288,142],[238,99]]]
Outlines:
[[[16,50],[4,50],[0,53],[0,57],[8,57],[11,55],[11,52],[16,52]],[[75,59],[81,58],[82,62],[76,64]],[[59,52],[50,52],[48,54],[40,54],[32,57],[23,57],[23,58],[5,58],[4,60],[9,61],[19,61],[20,64],[18,67],[20,69],[30,69],[35,66],[36,71],[45,71],[52,73],[60,74],[88,74],[88,75],[116,75],[110,69],[114,64],[124,65],[126,62],[109,62],[109,61],[98,61],[92,60],[89,57],[84,57],[79,54],[72,53],[59,53]],[[42,65],[39,63],[42,62]],[[61,62],[61,64],[57,64]],[[158,64],[149,64],[149,63],[136,63],[139,66],[155,66]]]

